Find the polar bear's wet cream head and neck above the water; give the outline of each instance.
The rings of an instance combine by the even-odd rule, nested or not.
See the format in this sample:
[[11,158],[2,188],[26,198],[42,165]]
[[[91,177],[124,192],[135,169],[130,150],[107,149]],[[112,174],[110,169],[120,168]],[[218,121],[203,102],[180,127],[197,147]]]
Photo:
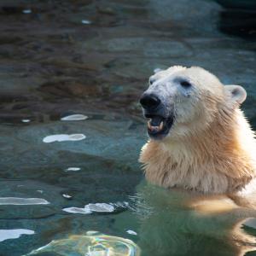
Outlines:
[[248,187],[256,143],[240,109],[246,96],[201,67],[174,66],[150,77],[140,99],[149,119],[140,155],[148,181],[215,195]]

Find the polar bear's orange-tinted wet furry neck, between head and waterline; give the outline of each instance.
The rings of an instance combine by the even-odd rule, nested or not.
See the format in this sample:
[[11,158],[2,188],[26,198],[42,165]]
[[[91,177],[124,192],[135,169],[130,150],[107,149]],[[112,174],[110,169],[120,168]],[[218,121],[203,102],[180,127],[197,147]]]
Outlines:
[[231,193],[249,183],[256,171],[255,140],[240,109],[218,113],[198,136],[152,141],[142,150],[146,178],[164,187],[204,193]]

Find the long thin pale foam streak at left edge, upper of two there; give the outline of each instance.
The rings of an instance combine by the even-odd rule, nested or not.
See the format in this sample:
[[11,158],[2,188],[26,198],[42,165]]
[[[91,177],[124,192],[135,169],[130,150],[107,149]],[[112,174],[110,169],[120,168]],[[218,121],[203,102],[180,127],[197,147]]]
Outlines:
[[43,198],[20,198],[20,197],[0,197],[0,205],[29,206],[29,205],[48,205],[49,201]]

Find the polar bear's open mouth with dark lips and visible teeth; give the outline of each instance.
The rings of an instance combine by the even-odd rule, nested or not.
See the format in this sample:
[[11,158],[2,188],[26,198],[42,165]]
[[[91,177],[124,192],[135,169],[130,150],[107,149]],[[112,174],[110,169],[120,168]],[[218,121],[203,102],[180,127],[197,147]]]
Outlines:
[[154,139],[166,137],[173,124],[173,116],[164,118],[160,115],[145,114],[148,118],[148,136]]

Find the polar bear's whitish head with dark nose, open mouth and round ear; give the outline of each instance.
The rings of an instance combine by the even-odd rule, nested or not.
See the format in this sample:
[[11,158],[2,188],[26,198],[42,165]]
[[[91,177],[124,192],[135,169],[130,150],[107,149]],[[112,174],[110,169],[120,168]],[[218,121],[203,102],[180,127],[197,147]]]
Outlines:
[[140,103],[149,137],[180,139],[200,135],[220,113],[235,113],[246,96],[241,86],[221,84],[201,67],[174,66],[149,78]]

